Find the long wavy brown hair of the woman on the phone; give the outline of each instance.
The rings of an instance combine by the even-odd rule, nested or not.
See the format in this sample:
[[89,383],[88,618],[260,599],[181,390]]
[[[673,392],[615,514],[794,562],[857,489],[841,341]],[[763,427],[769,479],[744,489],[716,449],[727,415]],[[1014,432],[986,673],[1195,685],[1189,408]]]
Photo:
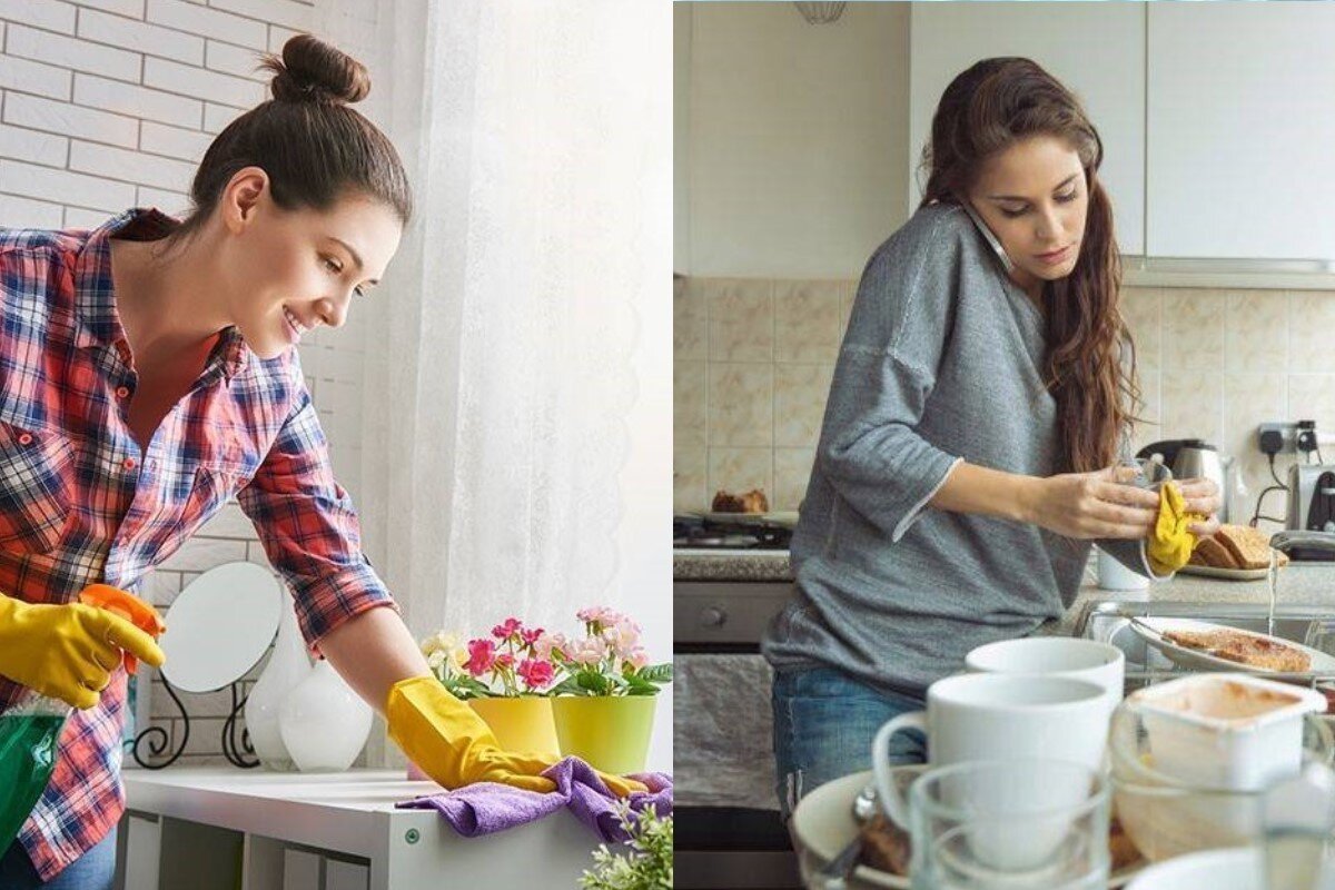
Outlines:
[[1136,419],[1135,346],[1119,308],[1121,260],[1112,201],[1099,181],[1103,141],[1080,101],[1029,59],[984,59],[945,88],[922,149],[922,207],[968,200],[983,163],[1032,136],[1065,140],[1084,167],[1089,204],[1071,275],[1047,282],[1044,376],[1057,403],[1064,470],[1109,466]]

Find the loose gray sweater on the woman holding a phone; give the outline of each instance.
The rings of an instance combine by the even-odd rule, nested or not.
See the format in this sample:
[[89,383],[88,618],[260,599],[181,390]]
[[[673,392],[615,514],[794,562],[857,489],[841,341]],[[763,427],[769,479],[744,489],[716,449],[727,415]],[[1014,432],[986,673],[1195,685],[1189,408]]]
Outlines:
[[762,643],[777,670],[828,664],[921,695],[1075,600],[1089,542],[924,508],[960,459],[1059,471],[1045,351],[1037,307],[961,208],[922,208],[876,251],[793,535],[797,592]]

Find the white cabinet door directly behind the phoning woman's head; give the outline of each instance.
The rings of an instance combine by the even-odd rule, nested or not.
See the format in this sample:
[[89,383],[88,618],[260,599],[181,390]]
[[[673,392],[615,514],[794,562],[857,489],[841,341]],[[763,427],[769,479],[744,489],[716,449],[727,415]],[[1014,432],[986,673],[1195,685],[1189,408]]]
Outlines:
[[[1195,11],[1199,4],[1188,5]],[[1124,254],[1141,254],[1145,4],[914,3],[912,9],[909,212],[921,200],[917,167],[947,85],[980,59],[1025,56],[1084,103],[1103,139],[1101,177],[1112,197],[1117,242]]]

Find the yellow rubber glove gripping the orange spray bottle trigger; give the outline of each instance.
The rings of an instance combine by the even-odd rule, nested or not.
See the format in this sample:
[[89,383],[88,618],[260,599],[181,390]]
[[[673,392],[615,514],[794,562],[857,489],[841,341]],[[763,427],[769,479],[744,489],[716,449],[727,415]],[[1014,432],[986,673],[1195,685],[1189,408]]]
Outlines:
[[0,594],[0,675],[75,707],[97,703],[121,655],[158,667],[163,650],[124,618],[84,603],[25,603]]

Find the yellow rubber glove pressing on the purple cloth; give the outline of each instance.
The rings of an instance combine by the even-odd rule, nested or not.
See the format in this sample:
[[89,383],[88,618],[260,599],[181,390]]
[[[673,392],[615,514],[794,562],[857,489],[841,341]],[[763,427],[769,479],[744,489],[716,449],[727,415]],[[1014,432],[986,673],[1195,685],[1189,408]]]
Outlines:
[[[558,758],[502,751],[477,711],[450,695],[434,677],[413,677],[390,689],[384,709],[390,738],[418,767],[447,789],[499,782],[529,791],[554,791],[539,775]],[[646,791],[643,783],[599,773],[617,797]]]

